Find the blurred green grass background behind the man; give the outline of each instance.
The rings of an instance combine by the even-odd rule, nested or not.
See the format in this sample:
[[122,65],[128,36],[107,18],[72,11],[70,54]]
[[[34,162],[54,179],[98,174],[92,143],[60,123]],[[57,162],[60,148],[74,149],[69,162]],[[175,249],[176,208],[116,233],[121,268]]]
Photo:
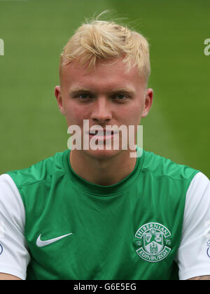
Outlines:
[[142,120],[144,149],[210,177],[209,0],[1,0],[0,174],[66,150],[54,97],[59,54],[85,18],[106,9],[116,10],[109,20],[125,18],[151,45],[155,96]]

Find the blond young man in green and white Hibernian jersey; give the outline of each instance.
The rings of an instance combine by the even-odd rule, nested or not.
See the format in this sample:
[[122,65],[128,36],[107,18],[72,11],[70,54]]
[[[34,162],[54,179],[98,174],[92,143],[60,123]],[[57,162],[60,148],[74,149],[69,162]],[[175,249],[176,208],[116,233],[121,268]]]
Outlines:
[[82,25],[59,74],[55,97],[68,127],[111,148],[82,140],[1,175],[0,279],[209,279],[209,179],[139,147],[131,157],[122,133],[104,133],[137,129],[151,109],[146,39],[113,22]]

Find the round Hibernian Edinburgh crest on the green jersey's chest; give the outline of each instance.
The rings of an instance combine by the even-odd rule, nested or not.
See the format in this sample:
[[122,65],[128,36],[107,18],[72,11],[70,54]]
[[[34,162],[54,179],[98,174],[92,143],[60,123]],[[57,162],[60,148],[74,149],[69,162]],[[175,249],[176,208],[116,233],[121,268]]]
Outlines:
[[158,262],[167,257],[172,250],[169,246],[172,240],[169,239],[171,232],[160,223],[146,223],[142,225],[135,237],[136,244],[140,248],[137,254],[148,262]]

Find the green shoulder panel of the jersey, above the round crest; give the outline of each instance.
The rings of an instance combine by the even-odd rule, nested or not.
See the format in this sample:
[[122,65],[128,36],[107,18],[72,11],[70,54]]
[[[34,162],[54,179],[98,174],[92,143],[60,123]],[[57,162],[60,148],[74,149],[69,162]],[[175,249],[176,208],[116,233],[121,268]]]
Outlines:
[[166,177],[172,181],[192,181],[200,171],[187,165],[180,165],[169,158],[144,151],[142,172],[151,172],[155,178],[159,179]]

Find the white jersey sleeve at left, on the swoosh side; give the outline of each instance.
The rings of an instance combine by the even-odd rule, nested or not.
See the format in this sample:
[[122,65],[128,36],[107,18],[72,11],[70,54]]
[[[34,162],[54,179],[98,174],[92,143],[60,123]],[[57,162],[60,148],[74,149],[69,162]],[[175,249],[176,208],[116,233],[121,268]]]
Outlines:
[[25,207],[8,174],[0,176],[0,272],[26,279],[30,255],[24,237]]

